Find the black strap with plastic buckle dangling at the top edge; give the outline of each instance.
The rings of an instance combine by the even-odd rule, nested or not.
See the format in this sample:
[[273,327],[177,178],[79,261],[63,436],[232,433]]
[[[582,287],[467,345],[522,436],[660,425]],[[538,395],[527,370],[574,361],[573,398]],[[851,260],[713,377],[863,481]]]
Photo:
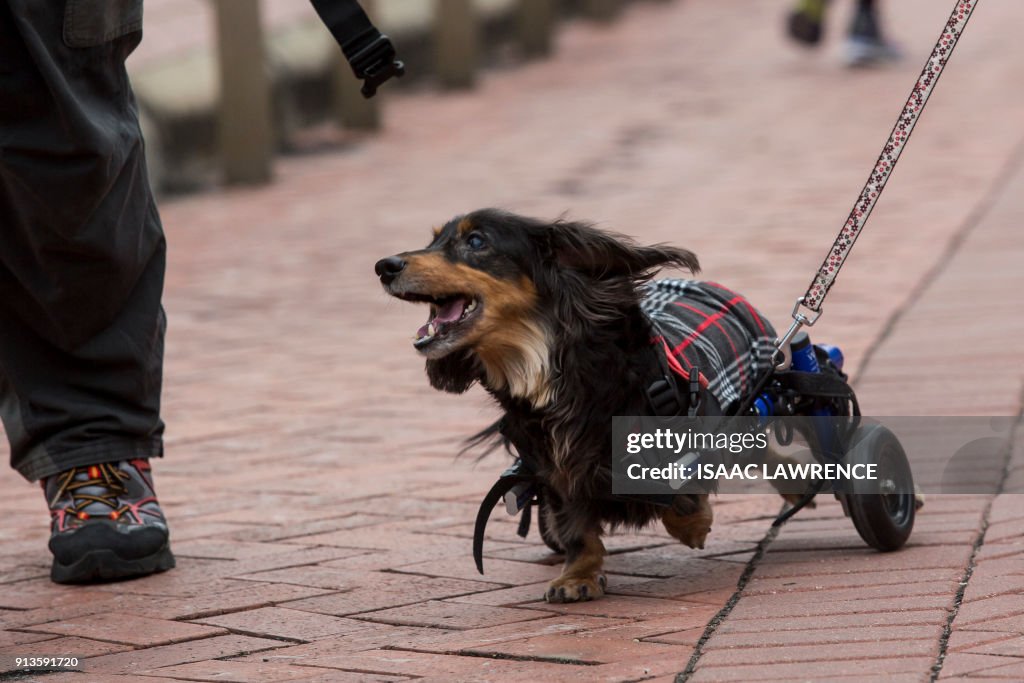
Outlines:
[[394,45],[370,22],[357,0],[309,0],[331,35],[341,46],[362,96],[373,97],[392,76],[401,77],[406,65],[395,58]]

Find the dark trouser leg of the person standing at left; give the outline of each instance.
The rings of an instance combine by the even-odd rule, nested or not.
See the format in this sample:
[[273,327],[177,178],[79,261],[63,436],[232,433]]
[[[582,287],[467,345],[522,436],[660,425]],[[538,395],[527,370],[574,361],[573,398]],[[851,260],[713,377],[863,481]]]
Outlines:
[[162,455],[141,0],[0,0],[0,416],[29,479]]

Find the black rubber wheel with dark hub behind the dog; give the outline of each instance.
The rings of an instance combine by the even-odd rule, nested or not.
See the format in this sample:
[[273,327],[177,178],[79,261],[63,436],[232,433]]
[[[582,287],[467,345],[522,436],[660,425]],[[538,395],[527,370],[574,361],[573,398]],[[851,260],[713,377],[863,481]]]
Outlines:
[[851,482],[847,509],[857,533],[871,548],[889,552],[910,538],[916,509],[910,464],[899,439],[882,425],[860,427],[846,462],[878,465],[874,479]]

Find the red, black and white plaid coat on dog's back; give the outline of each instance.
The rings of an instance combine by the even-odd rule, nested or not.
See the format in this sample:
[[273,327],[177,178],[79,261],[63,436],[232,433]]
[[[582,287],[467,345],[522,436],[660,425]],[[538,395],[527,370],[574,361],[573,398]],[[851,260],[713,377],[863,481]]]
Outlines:
[[716,283],[658,280],[644,288],[643,312],[684,379],[697,368],[700,385],[723,410],[743,398],[772,365],[775,330],[746,299]]

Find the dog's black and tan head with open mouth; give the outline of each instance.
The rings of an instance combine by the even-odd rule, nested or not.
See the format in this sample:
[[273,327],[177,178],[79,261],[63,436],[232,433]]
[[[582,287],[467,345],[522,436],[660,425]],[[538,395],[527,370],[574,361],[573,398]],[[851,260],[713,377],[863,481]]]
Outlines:
[[483,380],[540,408],[551,398],[555,350],[635,307],[637,286],[665,265],[698,268],[683,249],[483,209],[376,270],[391,296],[429,304],[414,346],[434,387],[459,393]]

